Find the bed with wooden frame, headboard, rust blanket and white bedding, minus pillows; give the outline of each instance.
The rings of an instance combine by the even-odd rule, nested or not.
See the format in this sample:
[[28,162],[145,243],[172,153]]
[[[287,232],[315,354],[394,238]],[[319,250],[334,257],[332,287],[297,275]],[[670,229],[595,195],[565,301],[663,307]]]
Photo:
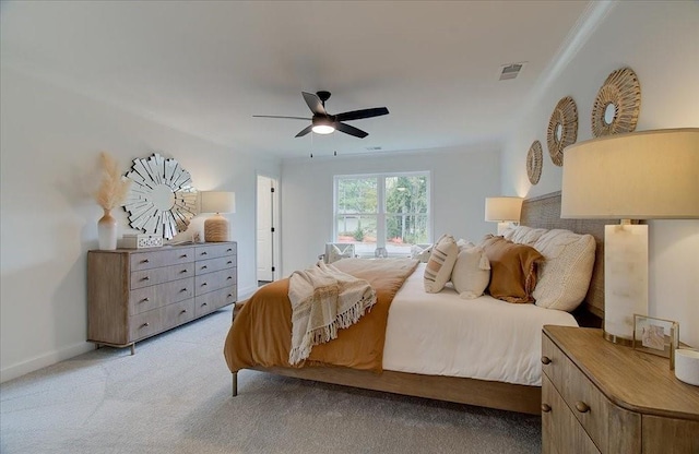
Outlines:
[[[266,296],[271,291],[286,291],[288,279],[265,286],[245,304],[237,315],[240,320],[234,322],[226,339],[224,355],[233,372],[233,394],[237,395],[238,391],[238,370],[253,369],[319,382],[540,414],[541,348],[532,346],[541,345],[541,326],[545,324],[600,325],[604,314],[602,239],[606,223],[608,220],[604,219],[560,219],[559,192],[524,201],[523,226],[547,230],[567,229],[589,234],[594,238],[592,277],[583,302],[572,314],[534,304],[512,304],[490,297],[463,300],[459,299],[451,287],[436,294],[425,294],[424,290],[420,291],[425,264],[401,264],[402,268],[398,266],[399,270],[393,271],[393,277],[399,278],[399,275],[404,274],[405,280],[389,279],[388,286],[381,287],[379,284],[386,283],[371,280],[376,278],[376,271],[363,270],[357,259],[341,261],[346,262],[342,265],[345,266],[343,271],[367,278],[374,287],[382,288],[378,290],[378,302],[371,308],[370,318],[339,332],[343,338],[339,335],[328,344],[315,346],[311,357],[301,363],[303,367],[292,367],[284,358],[260,360],[260,356],[250,353],[256,349],[289,351],[291,309],[284,309],[288,306],[288,300],[286,304],[268,307],[262,306],[264,302],[259,302],[269,299]],[[379,262],[381,261],[365,263],[378,266]],[[340,262],[337,265],[341,266]],[[407,270],[410,266],[414,268]],[[422,309],[426,297],[431,308],[428,313]],[[386,300],[388,304],[384,303]],[[389,307],[391,316],[388,316]],[[271,312],[280,308],[287,312]],[[266,312],[266,319],[253,319],[253,312]],[[531,319],[534,327],[525,323],[508,322],[510,325],[503,330],[505,322],[498,314],[506,312],[510,320]],[[454,313],[459,315],[454,316]],[[274,328],[270,319],[282,319],[287,326],[285,333]],[[434,327],[442,322],[446,325],[448,319],[463,319],[475,323],[469,328],[460,327],[459,324],[449,330]],[[242,328],[236,330],[236,323],[250,325],[269,345],[260,345],[260,338],[241,337]],[[494,325],[499,330],[493,330]],[[381,330],[384,331],[384,337],[379,342],[374,340],[374,334],[367,334]],[[328,359],[323,355],[328,355],[327,347],[333,343],[336,344],[336,348],[333,348],[340,353],[330,354],[331,359]],[[344,347],[362,343],[369,343],[365,345],[365,350],[370,351],[370,355],[355,358],[352,350]],[[488,348],[478,347],[481,345],[488,345]],[[530,346],[524,347],[525,351],[510,351],[524,345]]]

